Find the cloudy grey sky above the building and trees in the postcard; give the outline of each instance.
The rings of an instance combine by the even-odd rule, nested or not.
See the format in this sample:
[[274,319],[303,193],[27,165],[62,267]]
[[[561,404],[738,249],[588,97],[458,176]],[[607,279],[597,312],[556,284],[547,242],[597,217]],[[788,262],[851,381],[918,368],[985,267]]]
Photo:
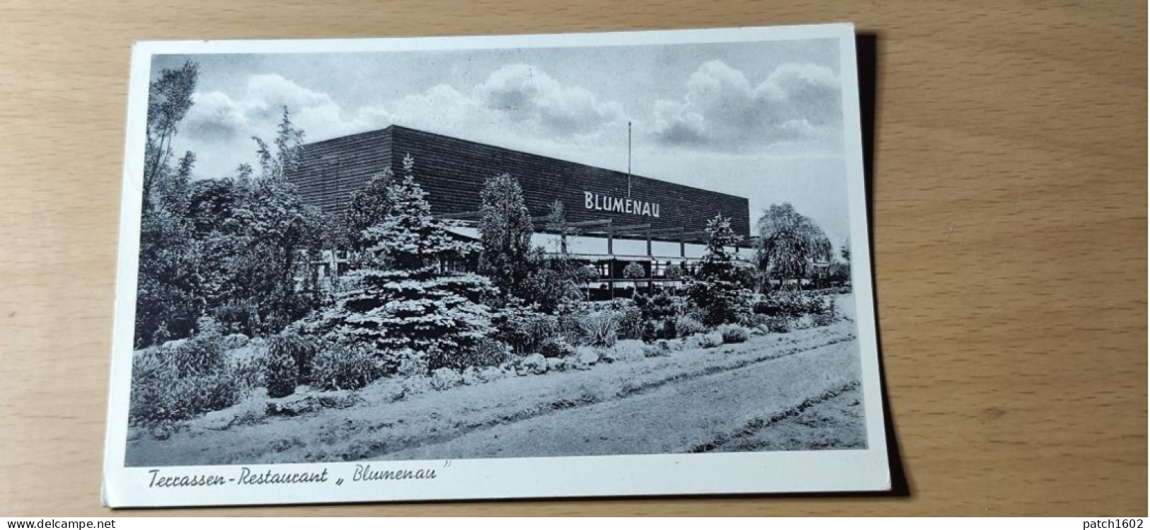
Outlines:
[[[283,107],[305,141],[391,124],[747,198],[849,235],[834,39],[323,54],[159,55],[200,64],[172,144],[198,178],[255,161]],[[417,163],[417,161],[416,161]]]

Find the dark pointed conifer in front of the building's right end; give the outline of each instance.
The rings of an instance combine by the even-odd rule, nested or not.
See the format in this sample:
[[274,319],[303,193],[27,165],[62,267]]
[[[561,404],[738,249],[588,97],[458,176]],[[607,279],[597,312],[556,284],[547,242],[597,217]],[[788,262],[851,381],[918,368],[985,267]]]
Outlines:
[[699,309],[703,323],[720,325],[737,322],[750,312],[751,292],[741,282],[735,255],[727,251],[739,237],[730,228],[730,220],[716,215],[707,222],[707,248],[699,260],[693,277],[687,282],[691,304]]

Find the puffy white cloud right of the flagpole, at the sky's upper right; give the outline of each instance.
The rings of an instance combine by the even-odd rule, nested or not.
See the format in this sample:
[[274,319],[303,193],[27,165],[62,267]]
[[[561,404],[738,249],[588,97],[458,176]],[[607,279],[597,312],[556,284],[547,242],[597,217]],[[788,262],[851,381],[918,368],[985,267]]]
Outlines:
[[654,103],[659,144],[711,151],[751,151],[833,136],[841,116],[838,76],[818,64],[787,63],[758,85],[722,61],[704,63],[680,99]]

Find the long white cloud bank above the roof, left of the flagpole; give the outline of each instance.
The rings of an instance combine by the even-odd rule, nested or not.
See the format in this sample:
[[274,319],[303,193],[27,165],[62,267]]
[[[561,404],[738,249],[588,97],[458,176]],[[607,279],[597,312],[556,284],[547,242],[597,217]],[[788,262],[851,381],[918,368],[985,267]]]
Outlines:
[[176,151],[194,151],[197,174],[235,174],[254,163],[251,137],[270,140],[283,115],[304,130],[305,141],[399,124],[508,147],[558,155],[626,138],[622,105],[581,86],[565,86],[538,67],[509,64],[474,86],[434,85],[397,100],[345,108],[329,94],[276,74],[250,75],[238,90],[195,94]]

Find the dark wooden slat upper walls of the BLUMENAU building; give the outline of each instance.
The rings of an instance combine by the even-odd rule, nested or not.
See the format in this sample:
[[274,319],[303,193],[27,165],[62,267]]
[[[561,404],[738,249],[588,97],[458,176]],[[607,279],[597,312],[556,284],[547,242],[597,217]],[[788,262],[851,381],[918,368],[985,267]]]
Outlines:
[[415,159],[415,175],[435,214],[480,209],[486,178],[508,172],[523,187],[531,215],[546,215],[564,201],[570,222],[612,218],[616,225],[650,223],[652,229],[702,230],[715,214],[731,217],[736,233],[750,233],[747,200],[653,178],[631,176],[631,197],[660,205],[659,217],[584,208],[584,192],[627,197],[627,174],[539,156],[398,125],[310,144],[304,167],[291,180],[304,198],[342,215],[351,194],[388,164],[400,172],[404,156]]

